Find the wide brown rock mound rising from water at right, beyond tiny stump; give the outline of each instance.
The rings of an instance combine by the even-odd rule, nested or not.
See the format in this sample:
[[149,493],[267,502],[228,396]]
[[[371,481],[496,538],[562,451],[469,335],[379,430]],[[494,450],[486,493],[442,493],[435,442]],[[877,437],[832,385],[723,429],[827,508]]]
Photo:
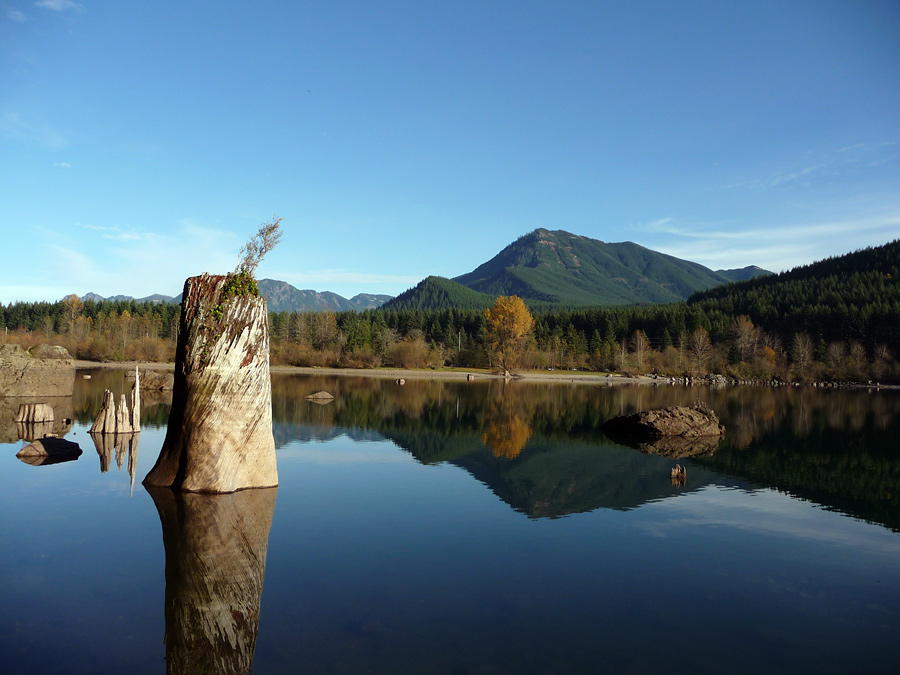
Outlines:
[[671,406],[614,417],[603,425],[603,431],[607,435],[649,439],[697,439],[721,436],[725,433],[725,427],[719,424],[719,418],[712,409],[705,403],[697,403],[693,408]]

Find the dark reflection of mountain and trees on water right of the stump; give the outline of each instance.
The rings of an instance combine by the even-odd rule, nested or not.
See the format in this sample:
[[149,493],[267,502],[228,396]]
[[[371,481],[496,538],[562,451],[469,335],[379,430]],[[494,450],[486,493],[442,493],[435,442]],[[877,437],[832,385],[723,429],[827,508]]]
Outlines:
[[[303,397],[329,391],[316,406]],[[700,398],[726,427],[721,441],[642,448],[687,465],[686,490],[774,488],[900,531],[900,396],[790,387],[593,387],[497,380],[276,376],[276,445],[385,438],[423,464],[465,468],[531,517],[632,508],[684,493],[665,456],[607,438],[616,415]],[[710,454],[711,453],[711,454]]]

